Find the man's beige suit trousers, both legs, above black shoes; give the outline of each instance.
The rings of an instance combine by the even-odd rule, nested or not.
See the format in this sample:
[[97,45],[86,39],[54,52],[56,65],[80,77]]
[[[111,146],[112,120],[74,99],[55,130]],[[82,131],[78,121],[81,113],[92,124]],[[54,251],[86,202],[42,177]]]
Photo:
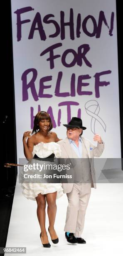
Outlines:
[[73,189],[66,194],[68,207],[64,231],[81,237],[84,229],[86,208],[91,195],[91,183],[74,183]]

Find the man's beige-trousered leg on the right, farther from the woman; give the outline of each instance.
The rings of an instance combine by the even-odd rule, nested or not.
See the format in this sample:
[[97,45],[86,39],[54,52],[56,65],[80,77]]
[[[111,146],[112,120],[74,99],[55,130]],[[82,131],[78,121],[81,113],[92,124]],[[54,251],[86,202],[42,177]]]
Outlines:
[[86,208],[89,203],[90,195],[91,195],[91,183],[82,183],[80,193],[79,193],[79,211],[78,211],[78,216],[76,221],[76,231],[74,232],[74,236],[76,238],[81,237],[81,234],[84,229]]

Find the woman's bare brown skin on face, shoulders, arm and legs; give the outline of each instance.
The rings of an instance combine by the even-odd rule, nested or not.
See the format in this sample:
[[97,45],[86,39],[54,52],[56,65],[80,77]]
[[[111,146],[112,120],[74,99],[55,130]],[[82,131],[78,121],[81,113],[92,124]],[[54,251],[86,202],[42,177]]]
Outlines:
[[[56,133],[48,131],[50,120],[43,119],[39,122],[38,125],[39,125],[39,131],[36,134],[31,136],[30,135],[31,131],[26,131],[23,135],[24,154],[27,160],[30,160],[33,158],[32,151],[33,151],[34,145],[37,145],[40,142],[49,143],[49,142],[60,141]],[[26,143],[26,139],[27,139],[27,143]],[[37,201],[37,218],[39,220],[39,225],[42,232],[41,240],[43,244],[49,243],[47,231],[45,228],[46,201],[48,205],[47,213],[49,218],[49,233],[50,233],[51,239],[56,239],[58,237],[56,231],[54,230],[54,222],[55,222],[55,217],[57,212],[56,197],[57,197],[57,191],[54,193],[48,193],[46,195],[38,194],[38,196],[35,197]]]

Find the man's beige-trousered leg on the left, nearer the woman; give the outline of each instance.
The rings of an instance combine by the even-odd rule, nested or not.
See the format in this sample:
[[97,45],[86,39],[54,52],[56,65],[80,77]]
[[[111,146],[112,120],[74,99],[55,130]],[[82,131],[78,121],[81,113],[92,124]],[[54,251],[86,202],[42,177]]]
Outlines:
[[79,210],[79,189],[78,184],[74,184],[73,189],[70,193],[67,193],[68,207],[66,212],[66,224],[64,231],[75,233],[76,232],[76,222]]

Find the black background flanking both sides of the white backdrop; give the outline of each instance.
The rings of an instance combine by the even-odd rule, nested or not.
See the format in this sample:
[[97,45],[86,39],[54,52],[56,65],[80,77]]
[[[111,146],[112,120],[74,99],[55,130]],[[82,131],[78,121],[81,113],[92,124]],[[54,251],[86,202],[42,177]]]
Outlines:
[[[21,1],[21,0],[20,0]],[[102,0],[103,1],[103,0]],[[0,246],[5,246],[16,185],[17,168],[5,168],[5,163],[17,163],[14,79],[12,57],[11,1],[2,1],[1,6],[1,161],[0,161]],[[30,1],[29,1],[30,2]],[[0,3],[1,4],[1,3]],[[29,3],[30,5],[30,3]],[[121,154],[123,158],[123,44],[122,1],[117,0],[118,70],[121,121]],[[115,102],[114,102],[115,104]],[[112,127],[114,136],[117,131]],[[112,133],[112,131],[111,131]],[[20,135],[21,136],[21,135]]]

